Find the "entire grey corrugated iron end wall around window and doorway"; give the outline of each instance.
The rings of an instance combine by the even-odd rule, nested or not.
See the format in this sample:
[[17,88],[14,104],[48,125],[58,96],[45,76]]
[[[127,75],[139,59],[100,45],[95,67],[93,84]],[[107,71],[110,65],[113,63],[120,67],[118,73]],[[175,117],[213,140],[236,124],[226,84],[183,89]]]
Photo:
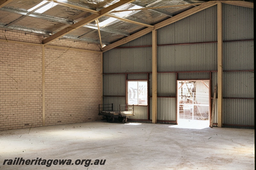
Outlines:
[[[149,80],[149,105],[136,106],[133,121],[152,119],[151,44],[149,33],[103,53],[104,103],[125,103],[125,78]],[[253,9],[223,4],[223,124],[228,127],[254,128],[253,45]],[[158,29],[158,122],[177,120],[177,80],[210,80],[213,98],[217,66],[217,5]],[[217,108],[216,99],[215,126]]]

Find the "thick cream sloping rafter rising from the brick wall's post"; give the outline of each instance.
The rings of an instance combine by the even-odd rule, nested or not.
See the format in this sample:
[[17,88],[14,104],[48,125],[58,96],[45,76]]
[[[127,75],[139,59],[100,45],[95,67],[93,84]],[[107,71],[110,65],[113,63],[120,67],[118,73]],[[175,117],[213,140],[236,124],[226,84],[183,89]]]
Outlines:
[[92,22],[96,19],[99,19],[100,17],[108,14],[109,12],[114,11],[117,7],[128,4],[128,3],[131,3],[132,1],[134,1],[134,0],[122,0],[122,1],[119,1],[115,4],[112,4],[112,5],[108,6],[107,8],[103,8],[102,10],[100,10],[100,15],[99,14],[92,14],[89,17],[87,17],[85,19],[82,19],[81,21],[60,30],[56,34],[53,34],[50,37],[44,39],[43,44],[51,43],[52,41],[54,41],[54,40],[56,40],[56,39],[58,39],[58,38],[60,38],[64,35],[72,32],[72,31],[74,31],[74,30],[76,30],[80,27],[83,27],[84,25],[86,25],[86,24],[88,24],[88,23],[90,23],[90,22]]

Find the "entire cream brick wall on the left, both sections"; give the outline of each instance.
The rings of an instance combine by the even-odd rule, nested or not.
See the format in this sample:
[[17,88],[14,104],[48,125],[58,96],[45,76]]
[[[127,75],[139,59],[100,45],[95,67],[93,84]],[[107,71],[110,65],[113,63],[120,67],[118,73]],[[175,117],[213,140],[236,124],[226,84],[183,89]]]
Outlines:
[[101,53],[85,51],[100,51],[98,44],[51,43],[69,50],[47,45],[43,93],[43,36],[0,31],[0,130],[43,126],[43,95],[46,126],[101,119]]

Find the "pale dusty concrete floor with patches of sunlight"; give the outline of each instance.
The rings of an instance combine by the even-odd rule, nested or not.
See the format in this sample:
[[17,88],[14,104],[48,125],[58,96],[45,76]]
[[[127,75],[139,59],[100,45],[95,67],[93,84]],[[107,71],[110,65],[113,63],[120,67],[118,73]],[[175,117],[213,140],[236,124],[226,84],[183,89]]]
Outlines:
[[[0,169],[251,170],[254,154],[252,129],[98,121],[0,131]],[[15,158],[71,159],[73,165],[3,165]],[[75,165],[77,159],[92,161],[85,167],[89,161]],[[105,164],[91,165],[96,159]]]

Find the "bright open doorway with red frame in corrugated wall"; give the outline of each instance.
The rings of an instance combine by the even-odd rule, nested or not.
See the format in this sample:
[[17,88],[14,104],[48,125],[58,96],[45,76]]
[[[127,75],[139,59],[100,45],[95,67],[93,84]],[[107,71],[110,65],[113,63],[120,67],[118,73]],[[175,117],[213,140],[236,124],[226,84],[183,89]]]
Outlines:
[[177,124],[181,128],[210,125],[209,80],[177,81]]

